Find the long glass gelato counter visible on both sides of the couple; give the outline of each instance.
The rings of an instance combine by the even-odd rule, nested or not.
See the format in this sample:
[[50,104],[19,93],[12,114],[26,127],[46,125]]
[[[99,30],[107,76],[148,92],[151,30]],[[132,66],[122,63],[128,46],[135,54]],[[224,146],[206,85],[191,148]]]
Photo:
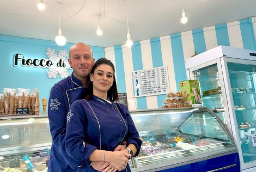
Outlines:
[[[131,116],[143,140],[139,155],[129,163],[132,171],[240,168],[227,128],[208,108],[139,110]],[[1,171],[47,170],[52,139],[46,115],[0,116],[0,131]]]

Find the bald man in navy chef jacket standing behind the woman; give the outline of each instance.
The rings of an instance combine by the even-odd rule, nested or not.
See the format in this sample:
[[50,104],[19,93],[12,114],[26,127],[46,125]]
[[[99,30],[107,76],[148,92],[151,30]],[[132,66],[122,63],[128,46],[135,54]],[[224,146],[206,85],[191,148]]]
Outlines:
[[65,150],[66,114],[72,102],[84,99],[87,78],[94,65],[91,48],[83,43],[73,45],[69,50],[71,76],[53,85],[48,101],[48,118],[52,135],[51,157],[48,172],[76,171],[69,167]]

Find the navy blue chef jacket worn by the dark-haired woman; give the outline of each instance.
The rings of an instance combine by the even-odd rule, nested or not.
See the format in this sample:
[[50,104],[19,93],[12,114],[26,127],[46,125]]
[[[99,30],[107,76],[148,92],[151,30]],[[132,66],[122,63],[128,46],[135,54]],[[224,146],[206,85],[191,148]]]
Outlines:
[[[94,112],[94,113],[93,113]],[[126,140],[134,144],[138,155],[142,141],[127,107],[107,102],[97,96],[92,100],[77,100],[70,106],[66,125],[66,151],[70,166],[77,171],[96,171],[90,167],[89,156],[95,149],[114,151]],[[130,171],[129,164],[122,171]]]

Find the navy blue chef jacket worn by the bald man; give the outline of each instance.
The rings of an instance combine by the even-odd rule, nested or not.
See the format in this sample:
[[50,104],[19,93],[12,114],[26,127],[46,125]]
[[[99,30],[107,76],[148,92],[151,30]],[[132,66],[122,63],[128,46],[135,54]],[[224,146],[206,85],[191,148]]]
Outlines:
[[52,135],[51,157],[48,163],[48,172],[72,172],[67,162],[75,161],[66,156],[65,133],[66,115],[69,107],[75,100],[83,99],[86,87],[72,75],[53,85],[48,101],[48,118]]

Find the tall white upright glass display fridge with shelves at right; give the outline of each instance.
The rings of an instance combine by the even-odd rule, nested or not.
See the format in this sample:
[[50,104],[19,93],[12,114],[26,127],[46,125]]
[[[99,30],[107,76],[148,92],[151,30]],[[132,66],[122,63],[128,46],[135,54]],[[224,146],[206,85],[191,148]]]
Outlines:
[[255,56],[256,51],[218,46],[186,60],[187,77],[198,79],[203,105],[212,109],[233,135],[241,170],[256,170]]

